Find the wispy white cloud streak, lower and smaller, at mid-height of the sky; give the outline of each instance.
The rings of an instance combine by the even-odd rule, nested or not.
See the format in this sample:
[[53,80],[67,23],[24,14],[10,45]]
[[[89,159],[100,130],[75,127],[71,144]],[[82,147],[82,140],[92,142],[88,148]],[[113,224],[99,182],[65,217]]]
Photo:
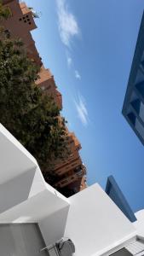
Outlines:
[[78,112],[79,119],[81,120],[84,126],[88,125],[89,116],[84,97],[78,96],[78,102],[74,101],[74,103]]

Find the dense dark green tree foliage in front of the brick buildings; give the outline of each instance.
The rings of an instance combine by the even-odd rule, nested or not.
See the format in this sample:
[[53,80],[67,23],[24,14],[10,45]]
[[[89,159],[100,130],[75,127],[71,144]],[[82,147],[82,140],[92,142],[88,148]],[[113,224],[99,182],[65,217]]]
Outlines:
[[38,67],[20,40],[0,34],[0,122],[36,157],[43,171],[66,154],[65,119],[35,81]]

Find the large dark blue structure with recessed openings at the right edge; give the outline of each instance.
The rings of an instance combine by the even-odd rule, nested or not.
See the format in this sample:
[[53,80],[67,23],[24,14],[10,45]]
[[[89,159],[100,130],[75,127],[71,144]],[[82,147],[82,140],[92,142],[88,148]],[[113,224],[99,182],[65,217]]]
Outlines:
[[122,113],[144,145],[144,14],[135,46]]

